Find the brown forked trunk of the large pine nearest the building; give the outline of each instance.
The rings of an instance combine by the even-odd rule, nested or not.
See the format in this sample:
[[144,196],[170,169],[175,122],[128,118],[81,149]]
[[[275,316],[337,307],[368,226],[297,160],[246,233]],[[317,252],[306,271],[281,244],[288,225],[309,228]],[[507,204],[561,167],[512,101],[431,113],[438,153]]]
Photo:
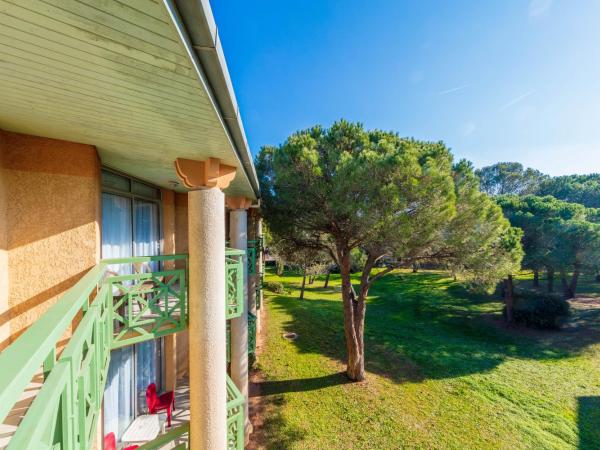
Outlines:
[[350,281],[350,252],[340,255],[342,302],[344,305],[344,334],[346,337],[346,374],[352,381],[365,379],[364,322],[365,301],[356,294]]

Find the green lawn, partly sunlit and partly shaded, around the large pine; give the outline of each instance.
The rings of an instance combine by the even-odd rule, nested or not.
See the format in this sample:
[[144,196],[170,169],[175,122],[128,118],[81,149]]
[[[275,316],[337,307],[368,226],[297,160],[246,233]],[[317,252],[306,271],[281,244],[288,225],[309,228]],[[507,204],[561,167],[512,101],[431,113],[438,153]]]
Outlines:
[[593,330],[506,330],[496,299],[440,273],[393,273],[368,301],[367,381],[348,383],[339,278],[316,281],[304,301],[300,277],[267,279],[290,291],[265,291],[265,447],[600,448]]

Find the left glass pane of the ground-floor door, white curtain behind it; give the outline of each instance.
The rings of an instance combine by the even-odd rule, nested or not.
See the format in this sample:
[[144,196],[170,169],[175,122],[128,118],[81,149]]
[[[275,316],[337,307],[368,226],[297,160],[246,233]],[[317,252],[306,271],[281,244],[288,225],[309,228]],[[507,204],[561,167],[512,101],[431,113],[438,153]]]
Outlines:
[[104,388],[104,434],[115,433],[117,440],[134,419],[132,386],[133,347],[113,350]]

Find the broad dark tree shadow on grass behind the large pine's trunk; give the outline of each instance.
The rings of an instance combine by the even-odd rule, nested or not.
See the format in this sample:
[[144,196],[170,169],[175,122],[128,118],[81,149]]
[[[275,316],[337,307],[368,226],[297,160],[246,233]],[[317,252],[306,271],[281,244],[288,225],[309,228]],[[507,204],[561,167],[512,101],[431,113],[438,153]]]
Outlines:
[[[344,361],[341,300],[318,299],[319,292],[333,298],[335,286],[308,291],[308,300],[272,297],[271,307],[292,317],[284,328],[298,333],[294,345],[301,352]],[[398,383],[487,372],[509,357],[553,360],[580,350],[557,348],[490,324],[486,319],[490,312],[498,314],[498,299],[469,294],[438,273],[391,274],[378,280],[370,294],[366,370]]]

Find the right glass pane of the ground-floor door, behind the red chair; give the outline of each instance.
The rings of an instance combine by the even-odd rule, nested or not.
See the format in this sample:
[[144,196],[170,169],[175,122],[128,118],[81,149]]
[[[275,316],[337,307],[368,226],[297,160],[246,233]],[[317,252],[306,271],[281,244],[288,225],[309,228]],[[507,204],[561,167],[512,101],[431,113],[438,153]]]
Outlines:
[[160,340],[142,342],[135,345],[135,381],[138,414],[147,414],[146,389],[151,383],[161,391]]

